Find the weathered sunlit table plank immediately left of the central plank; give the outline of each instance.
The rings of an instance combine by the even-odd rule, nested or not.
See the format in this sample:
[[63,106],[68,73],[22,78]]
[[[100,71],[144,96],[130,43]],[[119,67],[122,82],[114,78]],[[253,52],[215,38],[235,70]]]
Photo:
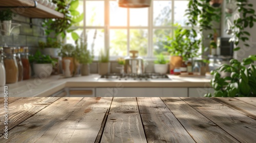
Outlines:
[[70,109],[68,118],[59,120],[36,142],[94,142],[111,102],[112,98],[83,98]]

